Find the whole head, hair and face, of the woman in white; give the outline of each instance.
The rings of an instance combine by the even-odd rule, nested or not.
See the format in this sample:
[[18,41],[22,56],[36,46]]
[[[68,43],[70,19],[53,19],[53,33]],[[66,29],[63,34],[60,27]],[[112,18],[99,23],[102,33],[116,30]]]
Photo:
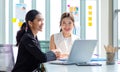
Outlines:
[[74,16],[72,13],[65,12],[61,16],[60,27],[64,34],[71,34],[74,28]]

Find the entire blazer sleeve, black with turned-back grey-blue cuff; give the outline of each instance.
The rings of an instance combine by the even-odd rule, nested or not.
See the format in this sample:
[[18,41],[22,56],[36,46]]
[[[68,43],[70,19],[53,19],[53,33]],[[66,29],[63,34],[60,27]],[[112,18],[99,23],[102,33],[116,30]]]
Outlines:
[[37,41],[35,41],[35,39],[27,37],[23,42],[26,50],[30,52],[30,54],[32,54],[36,59],[38,59],[40,63],[56,60],[56,55],[52,51],[48,51],[46,54],[43,53],[39,46],[37,46]]

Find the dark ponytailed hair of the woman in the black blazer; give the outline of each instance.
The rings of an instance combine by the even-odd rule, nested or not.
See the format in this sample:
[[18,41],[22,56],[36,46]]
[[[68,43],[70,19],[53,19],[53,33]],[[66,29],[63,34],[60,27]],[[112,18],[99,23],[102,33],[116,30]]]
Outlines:
[[38,15],[38,14],[41,14],[41,13],[37,10],[30,10],[26,14],[26,16],[25,16],[26,22],[24,22],[22,24],[20,30],[17,32],[17,35],[16,35],[16,41],[17,41],[16,46],[19,45],[20,40],[21,40],[22,36],[25,34],[25,32],[27,32],[27,30],[29,30],[28,21],[33,21],[35,19],[36,15]]

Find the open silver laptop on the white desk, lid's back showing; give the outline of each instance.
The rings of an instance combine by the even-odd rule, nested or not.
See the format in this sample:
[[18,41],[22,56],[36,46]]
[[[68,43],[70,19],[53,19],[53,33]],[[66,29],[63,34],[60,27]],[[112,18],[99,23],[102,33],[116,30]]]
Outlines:
[[97,40],[75,40],[67,60],[51,61],[51,64],[84,65],[90,62]]

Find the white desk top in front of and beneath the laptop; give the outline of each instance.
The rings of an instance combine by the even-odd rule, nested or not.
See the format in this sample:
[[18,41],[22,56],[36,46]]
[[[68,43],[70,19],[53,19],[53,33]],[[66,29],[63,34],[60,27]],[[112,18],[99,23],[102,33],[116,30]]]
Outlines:
[[106,65],[105,62],[102,66],[76,66],[76,65],[54,65],[44,63],[47,72],[120,72],[120,64]]

